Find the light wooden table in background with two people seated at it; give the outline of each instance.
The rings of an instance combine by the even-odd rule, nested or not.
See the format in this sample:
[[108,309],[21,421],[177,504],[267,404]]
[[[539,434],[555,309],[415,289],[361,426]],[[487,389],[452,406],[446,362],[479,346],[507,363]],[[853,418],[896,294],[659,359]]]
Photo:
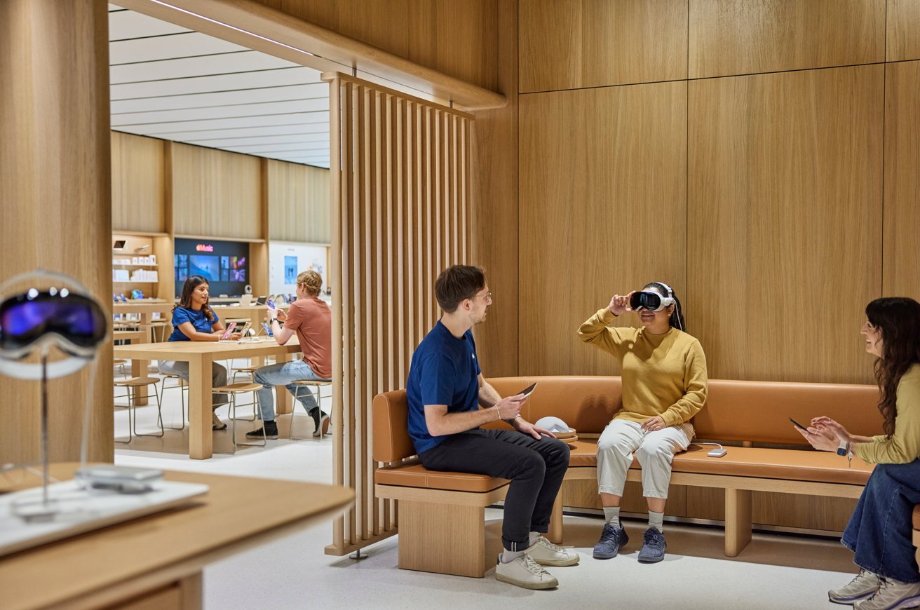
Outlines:
[[[285,345],[275,340],[246,341],[167,341],[116,345],[113,358],[124,360],[175,360],[189,363],[189,457],[206,460],[213,455],[211,430],[211,364],[230,358],[275,356],[278,362],[300,351],[296,335]],[[291,412],[291,395],[284,386],[275,388],[275,411]]]

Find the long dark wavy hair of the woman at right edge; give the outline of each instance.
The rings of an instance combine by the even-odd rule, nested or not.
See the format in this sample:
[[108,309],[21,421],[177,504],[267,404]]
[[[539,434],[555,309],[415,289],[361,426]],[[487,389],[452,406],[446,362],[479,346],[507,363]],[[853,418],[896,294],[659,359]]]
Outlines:
[[898,415],[898,384],[914,363],[920,363],[920,303],[906,296],[876,299],[866,305],[866,318],[881,331],[875,379],[881,390],[882,430],[891,438]]

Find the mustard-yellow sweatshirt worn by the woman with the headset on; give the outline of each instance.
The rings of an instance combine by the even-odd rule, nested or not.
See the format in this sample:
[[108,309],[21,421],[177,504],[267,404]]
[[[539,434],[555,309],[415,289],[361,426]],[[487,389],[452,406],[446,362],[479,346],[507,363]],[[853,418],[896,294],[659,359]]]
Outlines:
[[581,325],[578,336],[623,364],[623,409],[615,420],[642,423],[661,415],[665,425],[690,420],[706,403],[706,356],[695,337],[671,328],[607,328],[615,316],[604,307]]

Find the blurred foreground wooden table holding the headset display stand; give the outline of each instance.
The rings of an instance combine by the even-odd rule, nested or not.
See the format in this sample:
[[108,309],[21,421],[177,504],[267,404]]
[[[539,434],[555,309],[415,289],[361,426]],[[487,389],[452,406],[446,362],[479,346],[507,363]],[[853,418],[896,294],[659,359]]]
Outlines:
[[[76,466],[54,465],[52,475],[72,478]],[[337,516],[354,498],[351,489],[317,483],[172,471],[165,478],[210,490],[185,508],[4,558],[0,607],[201,608],[205,565]],[[3,481],[0,492],[12,490]],[[39,482],[29,476],[19,487]]]

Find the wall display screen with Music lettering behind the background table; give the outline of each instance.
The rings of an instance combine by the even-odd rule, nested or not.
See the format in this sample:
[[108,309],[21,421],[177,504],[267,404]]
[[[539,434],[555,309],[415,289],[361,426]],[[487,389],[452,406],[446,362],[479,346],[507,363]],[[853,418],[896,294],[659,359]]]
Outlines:
[[250,282],[247,242],[177,238],[175,252],[176,296],[192,275],[207,279],[212,296],[239,296]]

